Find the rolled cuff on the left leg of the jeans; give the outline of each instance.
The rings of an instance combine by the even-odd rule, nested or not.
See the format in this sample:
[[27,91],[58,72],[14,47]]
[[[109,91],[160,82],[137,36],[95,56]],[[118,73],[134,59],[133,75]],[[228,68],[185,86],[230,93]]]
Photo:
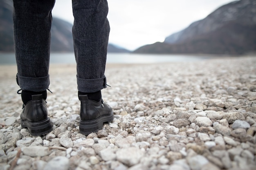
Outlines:
[[50,85],[49,74],[45,77],[23,77],[17,74],[17,83],[22,90],[43,92]]

